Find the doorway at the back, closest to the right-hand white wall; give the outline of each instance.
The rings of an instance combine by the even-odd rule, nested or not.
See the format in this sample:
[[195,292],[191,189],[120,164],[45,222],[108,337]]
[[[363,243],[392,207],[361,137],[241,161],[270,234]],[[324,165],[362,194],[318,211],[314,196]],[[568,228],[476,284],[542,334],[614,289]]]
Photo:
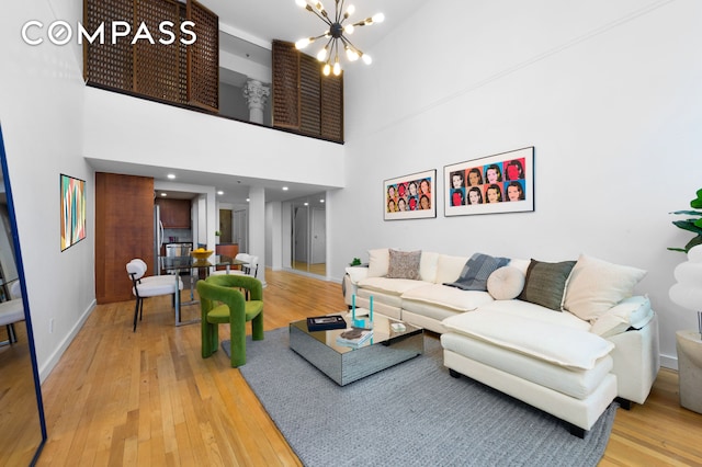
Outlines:
[[292,202],[291,267],[315,275],[327,274],[327,212],[325,194]]

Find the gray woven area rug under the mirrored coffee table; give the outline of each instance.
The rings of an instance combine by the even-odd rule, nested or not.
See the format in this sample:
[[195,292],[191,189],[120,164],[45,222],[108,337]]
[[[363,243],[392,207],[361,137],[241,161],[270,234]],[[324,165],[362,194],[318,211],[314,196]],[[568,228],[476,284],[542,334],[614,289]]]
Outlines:
[[[229,342],[222,343],[229,353]],[[565,422],[467,377],[449,375],[441,343],[348,386],[288,349],[287,328],[247,341],[239,369],[306,466],[596,466],[616,412],[585,440]]]

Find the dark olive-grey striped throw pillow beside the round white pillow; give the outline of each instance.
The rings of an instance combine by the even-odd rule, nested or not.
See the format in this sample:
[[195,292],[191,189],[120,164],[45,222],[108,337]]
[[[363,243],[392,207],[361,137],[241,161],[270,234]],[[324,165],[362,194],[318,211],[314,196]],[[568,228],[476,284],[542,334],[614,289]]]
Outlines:
[[524,289],[517,298],[562,311],[566,283],[575,263],[575,261],[544,263],[532,259],[526,270]]

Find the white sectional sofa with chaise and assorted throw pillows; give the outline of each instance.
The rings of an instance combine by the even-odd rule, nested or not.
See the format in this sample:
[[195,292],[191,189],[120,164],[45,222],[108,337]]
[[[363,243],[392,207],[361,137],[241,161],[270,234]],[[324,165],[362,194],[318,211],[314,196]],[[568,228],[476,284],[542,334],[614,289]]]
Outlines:
[[660,364],[656,314],[633,294],[645,271],[585,254],[558,263],[369,255],[367,266],[347,267],[347,304],[369,308],[372,296],[374,312],[440,333],[452,376],[552,413],[580,436],[613,399],[629,408],[648,397]]

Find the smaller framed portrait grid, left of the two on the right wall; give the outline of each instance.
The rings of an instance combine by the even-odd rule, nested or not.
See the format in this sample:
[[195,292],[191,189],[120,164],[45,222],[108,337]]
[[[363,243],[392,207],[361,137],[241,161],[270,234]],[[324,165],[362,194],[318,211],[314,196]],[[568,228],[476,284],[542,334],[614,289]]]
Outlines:
[[384,219],[437,217],[437,170],[383,181]]

